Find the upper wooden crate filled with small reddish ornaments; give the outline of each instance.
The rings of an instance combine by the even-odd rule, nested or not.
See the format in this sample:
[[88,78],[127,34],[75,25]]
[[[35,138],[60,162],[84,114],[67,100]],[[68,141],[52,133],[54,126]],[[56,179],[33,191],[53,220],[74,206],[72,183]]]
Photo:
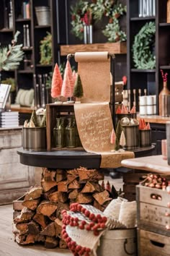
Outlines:
[[[153,199],[152,195],[160,198]],[[170,195],[162,189],[136,186],[137,220],[140,229],[170,236]]]

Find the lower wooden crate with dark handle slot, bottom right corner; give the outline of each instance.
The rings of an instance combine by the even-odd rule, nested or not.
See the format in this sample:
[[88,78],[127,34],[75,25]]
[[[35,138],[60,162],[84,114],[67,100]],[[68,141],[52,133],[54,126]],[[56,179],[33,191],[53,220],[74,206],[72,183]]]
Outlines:
[[170,237],[138,229],[138,256],[169,256]]

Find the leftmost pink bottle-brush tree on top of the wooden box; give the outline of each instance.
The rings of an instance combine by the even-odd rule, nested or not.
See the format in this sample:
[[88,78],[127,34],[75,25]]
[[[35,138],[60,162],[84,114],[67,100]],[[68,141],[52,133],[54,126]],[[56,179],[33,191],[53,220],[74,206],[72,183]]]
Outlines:
[[61,95],[61,88],[63,85],[63,78],[61,76],[60,69],[58,64],[55,64],[55,68],[53,71],[53,77],[51,82],[51,97],[58,98]]

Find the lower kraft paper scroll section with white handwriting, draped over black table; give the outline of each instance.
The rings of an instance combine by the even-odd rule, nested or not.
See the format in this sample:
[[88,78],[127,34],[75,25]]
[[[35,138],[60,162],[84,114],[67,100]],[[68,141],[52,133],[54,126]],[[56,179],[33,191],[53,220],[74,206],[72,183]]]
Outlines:
[[111,151],[113,126],[108,102],[75,104],[74,111],[81,143],[87,152],[102,155],[101,168],[117,168],[123,159],[134,158],[133,152]]

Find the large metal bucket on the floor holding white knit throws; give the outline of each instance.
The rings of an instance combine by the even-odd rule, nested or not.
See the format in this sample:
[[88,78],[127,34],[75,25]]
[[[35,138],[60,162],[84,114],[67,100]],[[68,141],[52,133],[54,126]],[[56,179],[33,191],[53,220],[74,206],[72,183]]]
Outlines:
[[136,229],[108,230],[100,239],[97,256],[135,256],[136,240]]

